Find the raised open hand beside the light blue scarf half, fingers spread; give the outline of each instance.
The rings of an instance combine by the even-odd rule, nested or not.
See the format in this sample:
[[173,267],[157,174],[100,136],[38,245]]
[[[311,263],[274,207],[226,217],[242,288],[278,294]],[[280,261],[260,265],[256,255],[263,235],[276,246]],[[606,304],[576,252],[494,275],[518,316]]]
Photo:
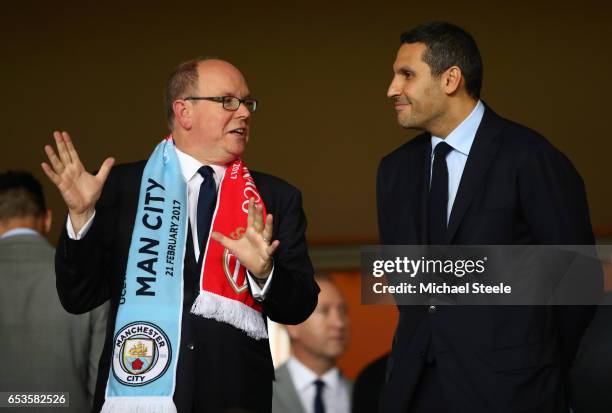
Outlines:
[[53,132],[57,154],[51,145],[45,145],[49,158],[41,164],[43,171],[57,186],[70,214],[73,229],[78,232],[94,213],[96,201],[115,160],[106,158],[97,175],[85,170],[68,132]]

